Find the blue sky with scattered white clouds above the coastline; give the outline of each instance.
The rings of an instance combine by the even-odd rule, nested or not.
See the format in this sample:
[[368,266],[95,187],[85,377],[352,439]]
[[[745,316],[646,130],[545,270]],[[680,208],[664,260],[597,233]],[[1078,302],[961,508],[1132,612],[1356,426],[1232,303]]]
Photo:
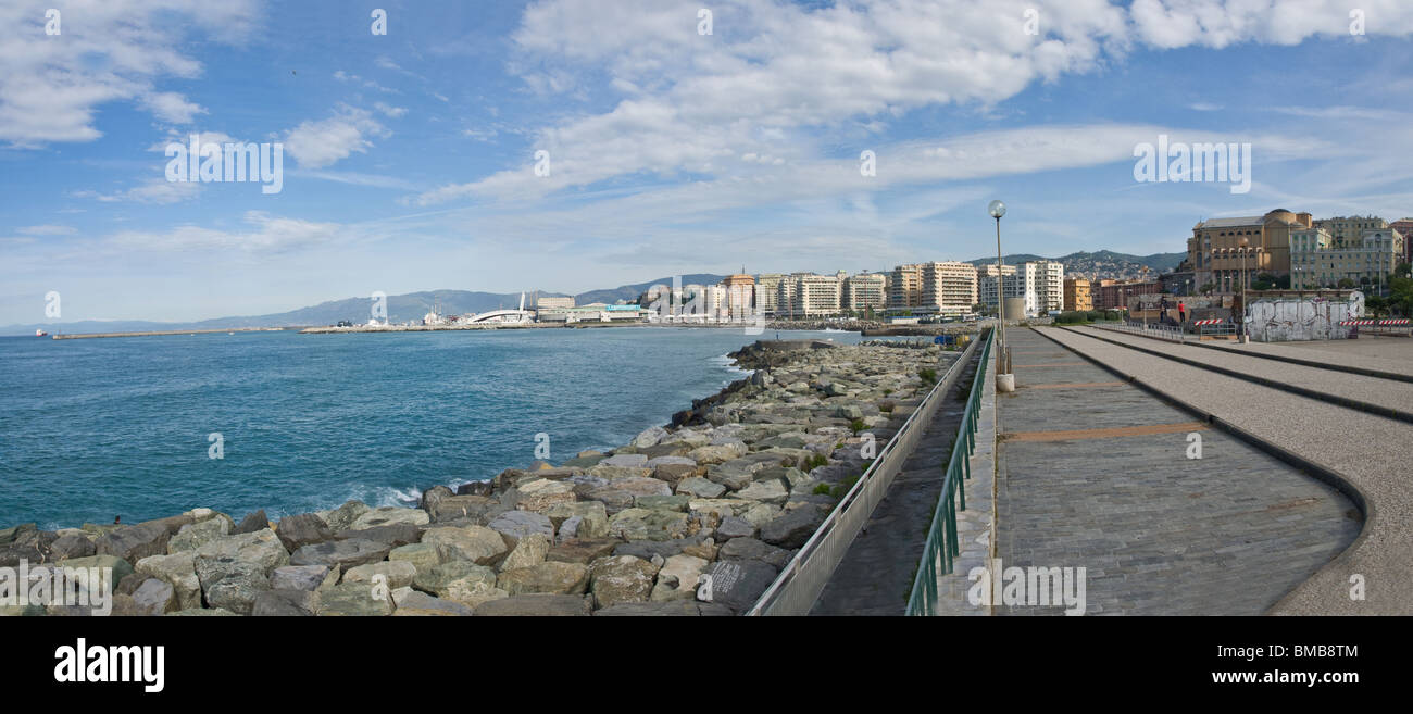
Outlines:
[[[1392,221],[1410,40],[1407,0],[0,0],[0,325],[969,260],[993,198],[1043,256]],[[175,174],[191,134],[278,192]],[[1139,180],[1160,137],[1249,182]]]

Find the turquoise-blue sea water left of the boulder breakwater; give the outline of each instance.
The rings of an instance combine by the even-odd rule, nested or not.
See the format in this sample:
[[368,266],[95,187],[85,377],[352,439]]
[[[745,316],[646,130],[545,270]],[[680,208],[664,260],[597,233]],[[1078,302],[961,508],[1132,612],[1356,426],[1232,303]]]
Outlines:
[[774,331],[0,338],[0,527],[411,505],[530,464],[538,433],[554,462],[622,445],[739,379],[725,353],[760,336]]

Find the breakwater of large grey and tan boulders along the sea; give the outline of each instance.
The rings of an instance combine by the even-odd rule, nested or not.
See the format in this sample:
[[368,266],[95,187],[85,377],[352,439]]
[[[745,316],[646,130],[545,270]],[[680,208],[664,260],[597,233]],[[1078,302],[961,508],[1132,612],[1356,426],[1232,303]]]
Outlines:
[[112,568],[119,615],[738,615],[957,353],[757,342],[733,356],[752,378],[610,452],[434,486],[418,508],[17,526],[0,530],[0,567]]

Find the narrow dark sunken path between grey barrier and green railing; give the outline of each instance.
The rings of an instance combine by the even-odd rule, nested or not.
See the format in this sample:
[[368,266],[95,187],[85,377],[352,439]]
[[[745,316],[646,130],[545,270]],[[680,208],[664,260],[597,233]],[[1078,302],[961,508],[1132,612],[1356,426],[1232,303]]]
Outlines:
[[[903,462],[903,469],[893,478],[868,525],[853,539],[811,615],[901,615],[907,609],[927,530],[942,493],[951,444],[966,407],[965,392],[961,390],[971,387],[975,365],[974,358],[962,368],[957,386]],[[989,496],[989,486],[986,489]],[[966,496],[971,508],[969,491]]]

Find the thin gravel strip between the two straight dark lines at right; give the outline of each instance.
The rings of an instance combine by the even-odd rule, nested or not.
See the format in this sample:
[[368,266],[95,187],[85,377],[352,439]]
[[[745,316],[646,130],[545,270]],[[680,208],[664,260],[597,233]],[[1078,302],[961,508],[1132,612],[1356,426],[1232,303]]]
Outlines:
[[[1094,331],[1094,328],[1089,328],[1089,331]],[[1366,378],[1362,375],[1351,375],[1348,372],[1332,372],[1330,369],[1291,365],[1289,362],[1276,362],[1272,359],[1260,359],[1246,355],[1229,355],[1215,349],[1180,345],[1177,342],[1164,342],[1161,339],[1129,335],[1126,332],[1112,329],[1094,331],[1094,334],[1115,342],[1136,345],[1145,349],[1157,349],[1169,355],[1243,372],[1252,376],[1275,379],[1316,392],[1356,399],[1381,407],[1413,411],[1413,383],[1409,382]]]

